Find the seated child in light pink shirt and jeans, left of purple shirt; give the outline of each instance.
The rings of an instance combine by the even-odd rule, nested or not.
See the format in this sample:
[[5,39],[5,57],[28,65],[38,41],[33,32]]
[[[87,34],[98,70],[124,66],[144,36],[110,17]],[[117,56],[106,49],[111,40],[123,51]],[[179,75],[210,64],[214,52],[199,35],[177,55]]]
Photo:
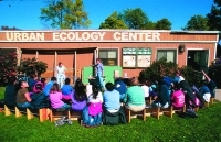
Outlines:
[[64,103],[62,101],[62,92],[60,90],[57,83],[53,84],[53,86],[50,90],[49,97],[50,97],[50,101],[51,101],[51,107],[53,109],[56,109],[59,111],[64,111],[65,109],[70,109],[70,105]]

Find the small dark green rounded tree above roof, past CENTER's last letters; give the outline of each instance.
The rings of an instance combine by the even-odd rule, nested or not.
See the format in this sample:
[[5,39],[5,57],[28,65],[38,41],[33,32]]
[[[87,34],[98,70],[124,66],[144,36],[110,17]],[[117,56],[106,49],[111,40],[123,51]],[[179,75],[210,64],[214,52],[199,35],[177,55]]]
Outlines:
[[158,20],[155,24],[156,30],[171,30],[171,22],[164,18],[161,20]]

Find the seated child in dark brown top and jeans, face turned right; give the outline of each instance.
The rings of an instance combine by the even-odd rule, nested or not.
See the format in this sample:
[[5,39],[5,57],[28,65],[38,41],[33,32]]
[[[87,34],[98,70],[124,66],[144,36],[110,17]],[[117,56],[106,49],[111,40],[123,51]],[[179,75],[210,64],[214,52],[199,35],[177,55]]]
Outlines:
[[29,108],[31,106],[31,98],[28,90],[28,83],[21,81],[21,88],[17,94],[17,106],[19,108]]

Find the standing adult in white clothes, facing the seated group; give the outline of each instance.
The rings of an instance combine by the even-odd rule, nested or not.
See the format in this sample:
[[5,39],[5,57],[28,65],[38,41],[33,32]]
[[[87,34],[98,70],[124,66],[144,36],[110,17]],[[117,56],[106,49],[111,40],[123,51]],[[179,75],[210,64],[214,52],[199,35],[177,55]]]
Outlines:
[[59,66],[56,66],[56,79],[57,79],[57,84],[59,84],[60,88],[62,88],[64,85],[65,70],[66,70],[66,68],[60,62]]

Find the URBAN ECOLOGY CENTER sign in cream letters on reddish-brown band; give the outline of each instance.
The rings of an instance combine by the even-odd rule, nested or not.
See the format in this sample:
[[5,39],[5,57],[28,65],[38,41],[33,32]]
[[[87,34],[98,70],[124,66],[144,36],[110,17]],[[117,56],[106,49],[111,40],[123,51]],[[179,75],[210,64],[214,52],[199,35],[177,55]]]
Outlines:
[[53,31],[53,32],[0,32],[1,41],[21,42],[148,42],[160,41],[159,32],[139,31]]

